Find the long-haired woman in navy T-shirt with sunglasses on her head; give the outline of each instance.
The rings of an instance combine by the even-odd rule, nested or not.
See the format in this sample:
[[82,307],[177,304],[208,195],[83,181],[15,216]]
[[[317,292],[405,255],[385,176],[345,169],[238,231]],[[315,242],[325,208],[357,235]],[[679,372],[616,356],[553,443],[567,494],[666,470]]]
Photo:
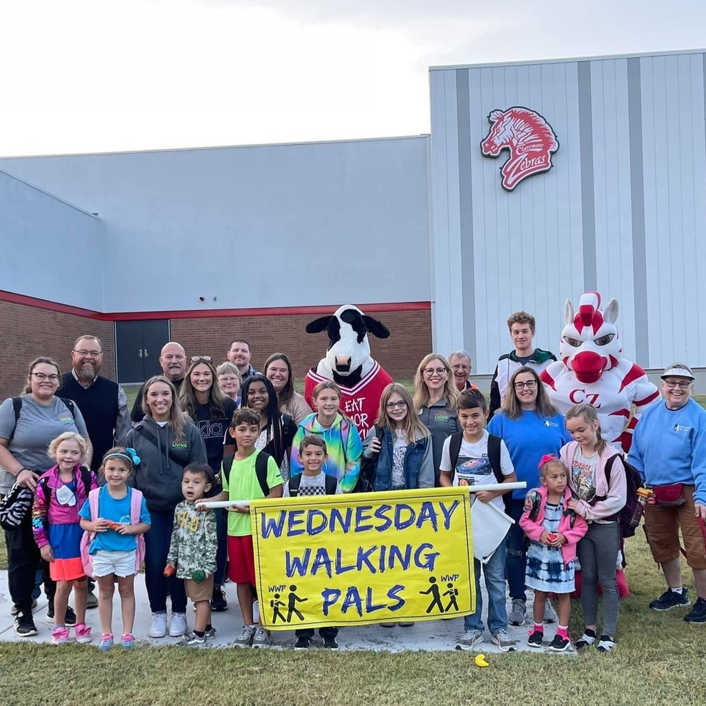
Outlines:
[[[216,382],[217,371],[210,356],[192,356],[186,369],[184,382],[179,390],[179,407],[193,419],[201,431],[201,438],[206,448],[208,465],[220,479],[221,464],[225,453],[233,453],[235,447],[224,447],[223,440],[233,419],[233,412],[238,405],[231,397],[226,397]],[[230,438],[228,435],[227,438]],[[218,495],[222,491],[220,482],[210,490],[208,496]],[[225,510],[218,509],[216,528],[218,533],[218,551],[216,553],[216,571],[213,575],[213,597],[211,609],[225,611],[228,603],[222,590],[225,578],[225,565],[228,555],[228,533]]]

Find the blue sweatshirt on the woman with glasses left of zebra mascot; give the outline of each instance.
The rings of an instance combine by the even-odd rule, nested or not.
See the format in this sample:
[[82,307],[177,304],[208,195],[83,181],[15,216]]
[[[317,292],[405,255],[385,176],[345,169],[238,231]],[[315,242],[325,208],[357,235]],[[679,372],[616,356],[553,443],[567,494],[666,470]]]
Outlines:
[[508,419],[498,412],[488,424],[488,431],[499,436],[508,447],[518,481],[526,481],[527,488],[513,490],[513,500],[524,501],[527,491],[538,488],[539,459],[545,453],[559,455],[559,450],[571,441],[566,431],[564,415],[539,417],[537,412],[522,411],[519,419]]

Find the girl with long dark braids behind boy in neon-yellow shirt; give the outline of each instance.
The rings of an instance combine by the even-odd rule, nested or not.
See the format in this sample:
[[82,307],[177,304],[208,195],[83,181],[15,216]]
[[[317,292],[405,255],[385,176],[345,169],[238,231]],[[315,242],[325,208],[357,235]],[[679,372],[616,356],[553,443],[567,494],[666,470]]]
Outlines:
[[289,479],[289,455],[297,425],[289,414],[282,414],[277,406],[277,393],[272,383],[262,375],[246,378],[242,389],[243,407],[260,413],[260,434],[255,448],[275,458],[282,478]]

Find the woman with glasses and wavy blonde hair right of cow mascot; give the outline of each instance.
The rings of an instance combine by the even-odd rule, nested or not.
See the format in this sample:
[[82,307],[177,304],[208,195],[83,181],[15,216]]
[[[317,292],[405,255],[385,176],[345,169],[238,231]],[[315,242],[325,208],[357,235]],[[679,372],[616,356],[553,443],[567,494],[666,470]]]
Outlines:
[[461,431],[456,417],[457,400],[458,390],[448,361],[436,353],[424,356],[414,376],[414,409],[419,421],[431,432],[434,485],[437,487],[444,439]]

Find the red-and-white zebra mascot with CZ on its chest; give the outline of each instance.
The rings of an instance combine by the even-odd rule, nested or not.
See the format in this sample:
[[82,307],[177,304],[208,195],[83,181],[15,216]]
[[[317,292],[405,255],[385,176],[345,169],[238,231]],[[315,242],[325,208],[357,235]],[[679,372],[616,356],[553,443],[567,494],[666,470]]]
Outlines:
[[[559,360],[539,376],[551,401],[564,413],[572,405],[588,403],[596,408],[601,435],[625,455],[633,431],[645,409],[659,400],[659,390],[639,365],[623,358],[616,319],[618,301],[611,299],[601,309],[598,292],[584,292],[578,311],[566,300]],[[633,411],[634,405],[634,411]],[[618,557],[618,593],[630,594]],[[576,577],[577,592],[580,576]]]

